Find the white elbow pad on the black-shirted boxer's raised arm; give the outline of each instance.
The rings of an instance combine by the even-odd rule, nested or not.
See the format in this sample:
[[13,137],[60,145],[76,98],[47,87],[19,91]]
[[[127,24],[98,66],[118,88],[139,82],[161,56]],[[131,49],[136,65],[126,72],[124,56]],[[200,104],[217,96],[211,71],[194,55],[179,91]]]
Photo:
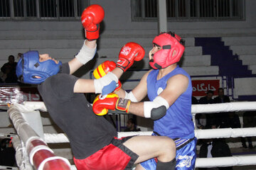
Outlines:
[[[85,40],[86,41],[86,40]],[[95,48],[90,48],[87,47],[85,45],[85,42],[82,45],[82,48],[80,50],[80,52],[78,52],[77,55],[75,55],[75,57],[78,59],[79,62],[81,62],[82,64],[86,64],[87,62],[89,62],[90,60],[92,60],[92,58],[95,56],[96,54],[96,47]]]

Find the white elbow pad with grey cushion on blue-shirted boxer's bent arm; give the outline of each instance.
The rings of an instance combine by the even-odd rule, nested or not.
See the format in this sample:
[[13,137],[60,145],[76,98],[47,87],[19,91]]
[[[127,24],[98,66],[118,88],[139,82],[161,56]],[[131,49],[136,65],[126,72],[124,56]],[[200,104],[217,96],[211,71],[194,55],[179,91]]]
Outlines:
[[145,118],[158,120],[166,115],[166,111],[168,108],[169,103],[161,96],[157,96],[154,101],[144,102],[144,116]]

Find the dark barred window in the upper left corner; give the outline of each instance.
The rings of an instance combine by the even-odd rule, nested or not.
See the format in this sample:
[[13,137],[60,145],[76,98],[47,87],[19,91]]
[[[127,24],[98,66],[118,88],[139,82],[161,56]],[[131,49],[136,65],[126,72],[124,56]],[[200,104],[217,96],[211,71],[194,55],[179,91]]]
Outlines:
[[78,19],[88,0],[0,0],[1,19]]

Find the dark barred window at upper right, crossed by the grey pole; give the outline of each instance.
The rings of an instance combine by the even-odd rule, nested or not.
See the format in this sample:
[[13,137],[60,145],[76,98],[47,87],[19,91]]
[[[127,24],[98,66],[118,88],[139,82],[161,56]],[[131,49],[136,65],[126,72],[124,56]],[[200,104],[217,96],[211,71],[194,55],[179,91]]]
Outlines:
[[[133,21],[156,21],[157,0],[132,0]],[[168,20],[242,20],[244,0],[166,0]]]

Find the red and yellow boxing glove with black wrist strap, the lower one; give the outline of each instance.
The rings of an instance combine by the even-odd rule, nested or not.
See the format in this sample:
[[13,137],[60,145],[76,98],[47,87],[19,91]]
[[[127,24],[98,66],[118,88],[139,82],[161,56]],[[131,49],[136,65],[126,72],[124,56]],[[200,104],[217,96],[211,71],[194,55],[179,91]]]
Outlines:
[[129,112],[129,105],[131,101],[124,98],[119,98],[117,94],[107,94],[105,98],[98,95],[95,101],[92,103],[92,111],[96,115],[105,115],[108,110],[114,111],[115,109],[119,111]]

